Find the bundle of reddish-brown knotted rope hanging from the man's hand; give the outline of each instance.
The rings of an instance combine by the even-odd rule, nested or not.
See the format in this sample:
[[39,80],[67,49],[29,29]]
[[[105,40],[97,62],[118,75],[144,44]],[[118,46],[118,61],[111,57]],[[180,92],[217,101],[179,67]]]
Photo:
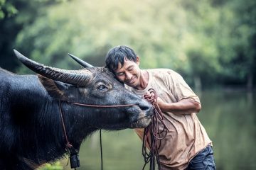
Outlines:
[[[146,101],[149,101],[154,107],[154,115],[151,118],[151,123],[144,129],[143,144],[142,144],[142,155],[144,157],[144,166],[149,164],[149,170],[155,169],[155,162],[157,163],[159,170],[161,170],[159,161],[158,149],[161,147],[161,140],[167,135],[168,128],[164,124],[164,115],[157,105],[157,94],[154,89],[149,89],[149,94],[143,96]],[[163,130],[159,130],[159,125],[163,125]],[[146,150],[149,148],[149,152]]]

